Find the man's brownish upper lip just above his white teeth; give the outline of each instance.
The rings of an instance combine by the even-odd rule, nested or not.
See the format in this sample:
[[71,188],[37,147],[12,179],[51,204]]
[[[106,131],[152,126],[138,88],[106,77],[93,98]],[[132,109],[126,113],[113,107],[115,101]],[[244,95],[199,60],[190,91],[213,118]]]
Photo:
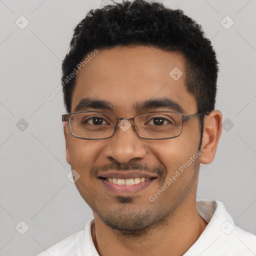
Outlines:
[[152,173],[146,173],[143,171],[107,171],[107,172],[102,172],[98,174],[98,177],[102,178],[120,178],[120,179],[129,179],[129,178],[156,178],[156,174]]

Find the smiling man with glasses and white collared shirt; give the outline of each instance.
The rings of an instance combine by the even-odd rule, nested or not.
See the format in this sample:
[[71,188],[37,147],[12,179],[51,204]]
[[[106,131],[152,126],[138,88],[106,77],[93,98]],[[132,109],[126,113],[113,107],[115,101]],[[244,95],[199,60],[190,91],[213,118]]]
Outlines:
[[66,159],[94,219],[40,256],[255,255],[219,201],[196,200],[221,134],[217,61],[200,26],[157,2],[91,10],[62,64]]

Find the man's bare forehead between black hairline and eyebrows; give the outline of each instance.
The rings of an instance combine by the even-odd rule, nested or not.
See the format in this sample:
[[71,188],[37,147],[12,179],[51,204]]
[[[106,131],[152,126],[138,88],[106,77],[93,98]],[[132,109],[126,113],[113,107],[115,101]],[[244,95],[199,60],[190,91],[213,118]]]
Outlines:
[[149,46],[99,50],[76,74],[72,111],[87,97],[110,102],[116,114],[134,113],[134,105],[159,98],[196,111],[195,97],[185,87],[183,55]]

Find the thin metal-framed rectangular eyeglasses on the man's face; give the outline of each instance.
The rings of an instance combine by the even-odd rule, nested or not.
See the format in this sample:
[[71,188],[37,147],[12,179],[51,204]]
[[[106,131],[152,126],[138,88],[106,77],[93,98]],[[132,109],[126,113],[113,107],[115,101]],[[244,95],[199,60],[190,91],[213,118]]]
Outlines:
[[[62,122],[67,121],[73,136],[81,139],[110,138],[119,126],[127,130],[132,121],[133,129],[140,138],[167,139],[181,134],[183,122],[204,112],[183,115],[178,112],[156,111],[140,113],[132,118],[117,117],[100,111],[79,111],[62,115]],[[120,121],[121,120],[121,121]]]

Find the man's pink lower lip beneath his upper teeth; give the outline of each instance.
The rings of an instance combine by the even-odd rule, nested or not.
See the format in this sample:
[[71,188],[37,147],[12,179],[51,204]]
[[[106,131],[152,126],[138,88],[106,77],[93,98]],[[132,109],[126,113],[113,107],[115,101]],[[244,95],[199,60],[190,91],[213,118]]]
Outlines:
[[114,183],[110,183],[109,181],[99,178],[99,180],[102,182],[102,184],[111,190],[112,192],[116,194],[127,194],[127,193],[136,193],[138,191],[141,191],[148,187],[152,182],[154,182],[156,178],[148,179],[144,182],[140,182],[138,184],[133,184],[133,185],[118,185]]

